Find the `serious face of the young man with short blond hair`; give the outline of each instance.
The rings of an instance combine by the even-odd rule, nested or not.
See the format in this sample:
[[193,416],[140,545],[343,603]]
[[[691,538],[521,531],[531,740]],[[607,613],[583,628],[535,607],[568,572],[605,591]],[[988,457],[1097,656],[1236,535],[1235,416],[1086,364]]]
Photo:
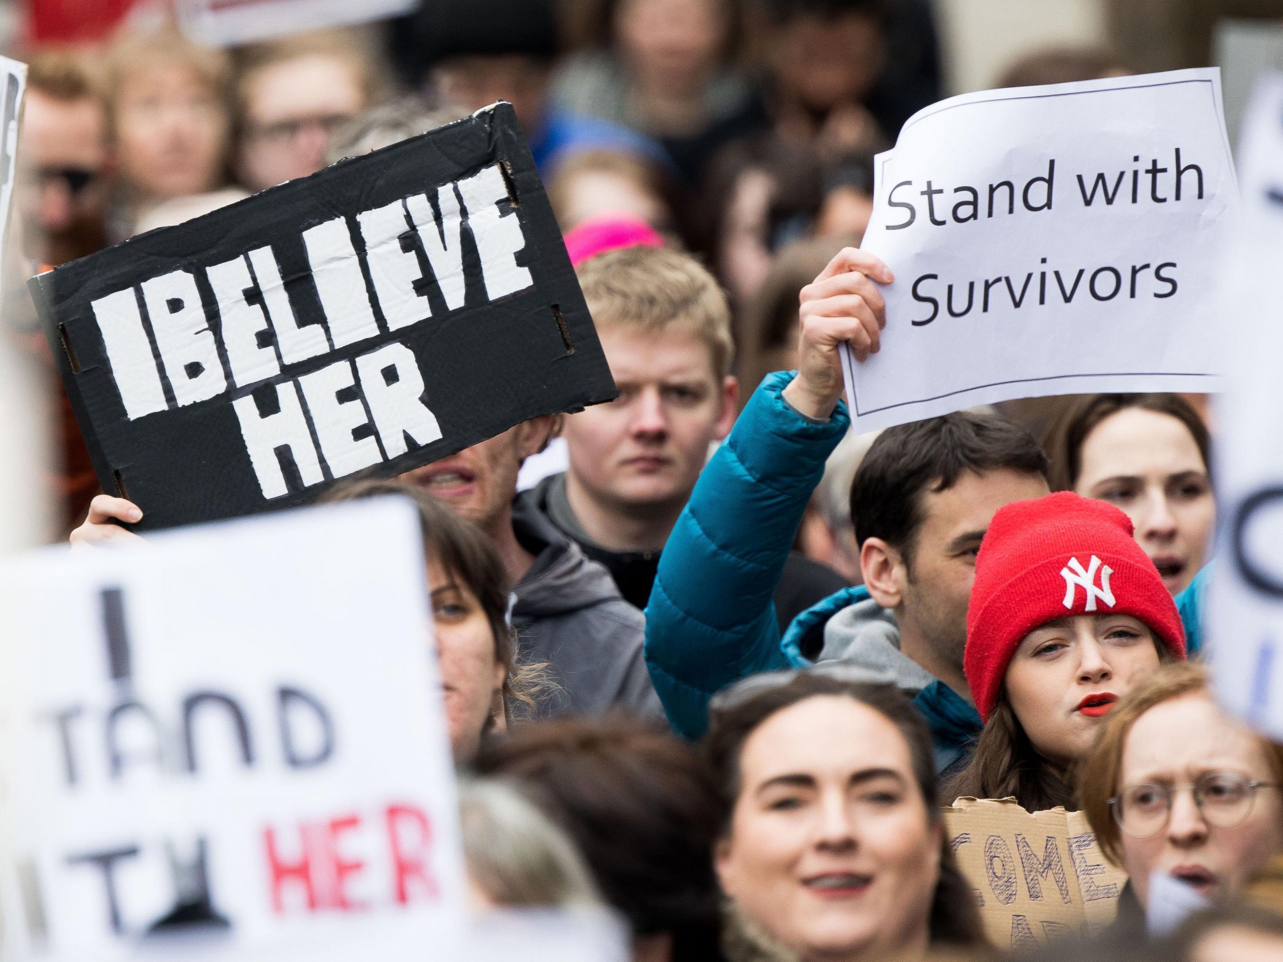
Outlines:
[[603,327],[620,396],[566,418],[570,473],[598,503],[684,504],[735,419],[735,378],[720,378],[703,341],[677,330]]

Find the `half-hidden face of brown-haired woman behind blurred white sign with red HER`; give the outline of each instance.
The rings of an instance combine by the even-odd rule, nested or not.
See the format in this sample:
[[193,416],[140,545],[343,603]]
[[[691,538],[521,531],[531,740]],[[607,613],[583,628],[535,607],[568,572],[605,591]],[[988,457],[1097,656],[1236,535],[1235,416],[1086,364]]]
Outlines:
[[462,764],[476,754],[491,713],[502,712],[506,672],[495,658],[490,621],[471,589],[435,561],[427,563],[427,584],[450,748],[455,764]]

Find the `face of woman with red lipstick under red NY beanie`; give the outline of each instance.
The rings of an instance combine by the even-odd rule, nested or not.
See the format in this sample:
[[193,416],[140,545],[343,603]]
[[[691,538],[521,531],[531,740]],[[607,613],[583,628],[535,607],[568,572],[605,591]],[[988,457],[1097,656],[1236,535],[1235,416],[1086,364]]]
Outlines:
[[1039,754],[1069,764],[1101,718],[1159,667],[1153,632],[1130,614],[1074,614],[1020,641],[1003,680],[1007,702]]

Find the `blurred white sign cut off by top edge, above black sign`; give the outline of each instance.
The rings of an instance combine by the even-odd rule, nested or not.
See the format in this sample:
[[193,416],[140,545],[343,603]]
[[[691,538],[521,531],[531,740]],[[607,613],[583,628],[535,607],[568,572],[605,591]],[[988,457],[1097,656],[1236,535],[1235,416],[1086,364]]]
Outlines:
[[198,44],[231,46],[409,13],[416,0],[178,0],[178,23]]

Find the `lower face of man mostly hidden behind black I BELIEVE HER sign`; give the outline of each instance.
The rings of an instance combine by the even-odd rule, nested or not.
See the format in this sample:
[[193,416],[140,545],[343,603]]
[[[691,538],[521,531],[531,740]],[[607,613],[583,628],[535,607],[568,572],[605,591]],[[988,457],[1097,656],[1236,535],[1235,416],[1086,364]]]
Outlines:
[[507,523],[521,462],[539,451],[553,418],[540,417],[400,476],[444,502],[455,514],[491,531]]

